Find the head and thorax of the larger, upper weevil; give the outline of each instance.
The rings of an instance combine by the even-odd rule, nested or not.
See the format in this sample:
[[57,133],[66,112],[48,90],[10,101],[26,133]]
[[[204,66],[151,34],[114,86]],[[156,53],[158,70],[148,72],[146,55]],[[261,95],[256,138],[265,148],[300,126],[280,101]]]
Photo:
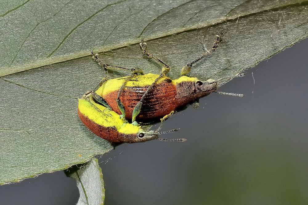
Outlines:
[[181,76],[173,82],[176,85],[176,101],[179,105],[206,96],[217,89],[217,81],[213,79],[202,82],[196,77]]

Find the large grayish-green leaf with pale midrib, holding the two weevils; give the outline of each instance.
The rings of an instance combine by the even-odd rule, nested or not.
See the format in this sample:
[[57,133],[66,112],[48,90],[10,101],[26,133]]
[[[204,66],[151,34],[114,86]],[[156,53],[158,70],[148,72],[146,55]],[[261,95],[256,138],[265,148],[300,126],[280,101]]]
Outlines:
[[190,73],[222,85],[306,38],[308,30],[308,1],[7,4],[0,6],[0,184],[66,169],[111,150],[76,113],[77,98],[103,76],[89,57],[91,49],[105,51],[100,55],[108,64],[159,73],[160,66],[142,56],[137,42],[144,37],[176,78],[201,55],[202,44],[209,48],[226,31],[215,53]]

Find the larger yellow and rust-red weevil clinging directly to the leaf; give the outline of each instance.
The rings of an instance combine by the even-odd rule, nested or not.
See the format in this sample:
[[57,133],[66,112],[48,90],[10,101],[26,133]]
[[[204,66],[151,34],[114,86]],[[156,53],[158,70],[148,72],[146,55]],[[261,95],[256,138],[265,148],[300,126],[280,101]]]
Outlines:
[[[92,51],[92,58],[105,70],[105,78],[94,89],[93,97],[110,110],[121,114],[122,118],[132,119],[132,122],[136,119],[147,120],[165,116],[187,103],[191,103],[197,109],[199,107],[198,99],[215,92],[217,81],[208,79],[202,82],[195,77],[187,77],[186,75],[190,72],[193,64],[215,51],[222,36],[223,33],[217,35],[212,48],[206,49],[201,57],[185,65],[182,68],[181,77],[175,80],[166,76],[170,70],[169,65],[150,53],[144,40],[141,40],[140,43],[142,52],[163,66],[160,75],[144,74],[140,68],[128,69],[105,64],[99,59],[98,54],[94,54]],[[108,69],[127,70],[131,72],[131,75],[107,80]],[[243,97],[242,94],[217,93]]]

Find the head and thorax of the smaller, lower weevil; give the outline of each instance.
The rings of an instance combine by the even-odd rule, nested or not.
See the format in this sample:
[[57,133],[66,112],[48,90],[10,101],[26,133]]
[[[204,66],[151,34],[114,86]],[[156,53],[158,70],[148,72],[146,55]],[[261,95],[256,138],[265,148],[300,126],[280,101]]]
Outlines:
[[156,140],[158,134],[154,131],[145,132],[141,126],[124,124],[119,130],[118,139],[121,142],[135,143]]

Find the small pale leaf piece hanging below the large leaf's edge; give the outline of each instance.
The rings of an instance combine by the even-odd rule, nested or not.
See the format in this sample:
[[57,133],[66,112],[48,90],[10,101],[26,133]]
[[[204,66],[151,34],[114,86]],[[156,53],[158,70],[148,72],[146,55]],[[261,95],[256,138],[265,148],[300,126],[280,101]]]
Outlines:
[[77,205],[104,204],[103,173],[95,157],[85,164],[77,164],[67,169],[65,173],[77,182],[80,195]]

